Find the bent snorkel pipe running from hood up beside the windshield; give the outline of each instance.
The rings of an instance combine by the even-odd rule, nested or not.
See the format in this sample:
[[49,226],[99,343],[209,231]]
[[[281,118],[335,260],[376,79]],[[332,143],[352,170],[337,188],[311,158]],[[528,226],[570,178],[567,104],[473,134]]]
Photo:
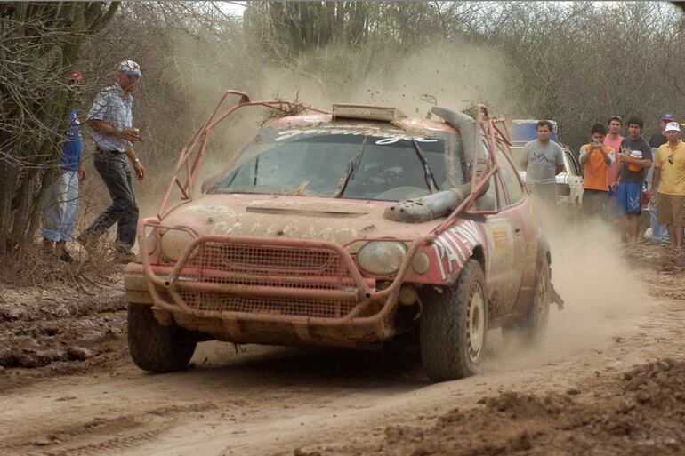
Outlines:
[[[478,124],[471,117],[463,113],[434,106],[431,113],[442,118],[447,124],[459,131],[462,137],[463,153],[467,163],[472,164],[471,182],[433,193],[422,198],[407,199],[393,204],[383,212],[388,220],[404,223],[422,223],[447,216],[456,209],[463,200],[471,195],[471,183],[479,182],[485,173],[485,158],[479,154]],[[479,192],[480,195],[488,191],[488,184]]]

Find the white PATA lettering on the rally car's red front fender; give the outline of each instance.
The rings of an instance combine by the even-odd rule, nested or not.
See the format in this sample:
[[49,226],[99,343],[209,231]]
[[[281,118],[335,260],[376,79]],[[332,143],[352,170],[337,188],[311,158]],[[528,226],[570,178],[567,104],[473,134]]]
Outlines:
[[483,244],[478,225],[466,220],[455,227],[447,229],[433,242],[433,252],[438,259],[440,276],[447,280],[455,270],[461,270],[471,258],[471,252],[477,245]]

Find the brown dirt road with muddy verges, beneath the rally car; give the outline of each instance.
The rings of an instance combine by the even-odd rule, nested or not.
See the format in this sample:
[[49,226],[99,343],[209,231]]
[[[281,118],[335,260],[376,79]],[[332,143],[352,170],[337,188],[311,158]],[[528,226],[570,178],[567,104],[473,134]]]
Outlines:
[[678,453],[681,265],[659,247],[590,267],[574,255],[554,265],[574,279],[556,280],[568,305],[552,311],[544,348],[522,353],[490,332],[485,372],[441,384],[407,352],[217,342],[188,371],[151,375],[126,356],[119,284],[67,298],[9,289],[0,454]]

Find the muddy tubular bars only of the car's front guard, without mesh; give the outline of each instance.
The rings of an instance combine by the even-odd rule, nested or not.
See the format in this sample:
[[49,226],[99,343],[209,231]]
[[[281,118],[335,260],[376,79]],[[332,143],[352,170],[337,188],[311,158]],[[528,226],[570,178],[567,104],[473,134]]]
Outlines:
[[[142,273],[147,278],[149,294],[157,308],[162,308],[173,315],[195,316],[200,318],[221,319],[224,321],[238,322],[274,322],[293,324],[298,333],[298,327],[307,326],[364,326],[373,328],[376,336],[381,339],[389,338],[393,329],[390,319],[397,304],[400,285],[406,276],[407,268],[414,258],[415,252],[427,238],[416,239],[409,245],[399,270],[391,281],[391,284],[383,290],[374,288],[375,281],[369,281],[361,276],[359,268],[341,245],[326,241],[315,241],[305,239],[288,238],[268,238],[255,236],[224,236],[224,235],[205,235],[197,236],[191,241],[181,254],[181,258],[176,261],[173,267],[153,266],[149,260],[149,246],[147,243],[146,231],[149,228],[173,229],[164,227],[158,223],[157,218],[141,220],[138,230],[138,241],[141,246]],[[427,236],[428,237],[428,236]],[[295,247],[301,249],[323,249],[335,252],[342,260],[351,276],[352,286],[345,287],[345,290],[322,290],[306,289],[297,287],[274,287],[268,285],[245,285],[245,284],[217,284],[204,283],[197,281],[187,281],[183,279],[183,270],[189,261],[190,255],[199,244],[241,244],[254,246],[270,247]],[[137,265],[131,265],[129,272],[136,274]],[[318,317],[318,316],[292,316],[278,314],[263,314],[253,312],[237,312],[230,310],[205,310],[190,307],[181,297],[180,288],[187,288],[197,292],[219,292],[230,295],[256,295],[256,296],[282,296],[284,298],[319,298],[346,300],[354,303],[351,312],[340,317]],[[166,299],[166,296],[171,298]],[[380,309],[372,315],[362,315],[374,304],[380,303]],[[305,328],[306,329],[306,328]]]

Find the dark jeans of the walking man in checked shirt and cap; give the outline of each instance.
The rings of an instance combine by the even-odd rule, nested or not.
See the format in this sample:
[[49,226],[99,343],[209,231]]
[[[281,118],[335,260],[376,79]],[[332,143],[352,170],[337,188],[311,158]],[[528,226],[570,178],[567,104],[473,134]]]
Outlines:
[[131,167],[126,154],[98,151],[95,154],[94,165],[109,190],[112,204],[93,220],[82,236],[101,236],[117,223],[117,250],[129,252],[135,244],[138,206],[135,204]]

